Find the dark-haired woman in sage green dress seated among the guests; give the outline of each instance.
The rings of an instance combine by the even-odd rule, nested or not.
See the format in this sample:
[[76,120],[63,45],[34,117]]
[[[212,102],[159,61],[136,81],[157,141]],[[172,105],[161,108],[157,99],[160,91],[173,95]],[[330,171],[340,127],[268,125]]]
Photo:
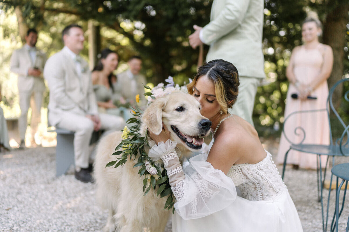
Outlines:
[[121,96],[121,86],[113,71],[118,67],[118,54],[109,48],[101,51],[101,58],[91,73],[92,84],[100,113],[121,116],[125,121],[132,116]]

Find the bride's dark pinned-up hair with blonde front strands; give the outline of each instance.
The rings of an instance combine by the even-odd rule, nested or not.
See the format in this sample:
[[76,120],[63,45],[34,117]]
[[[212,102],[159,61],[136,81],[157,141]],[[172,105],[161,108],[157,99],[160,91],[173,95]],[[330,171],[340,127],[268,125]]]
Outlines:
[[217,102],[221,110],[227,113],[228,108],[234,105],[238,97],[238,87],[240,85],[238,70],[232,63],[223,59],[205,62],[205,64],[199,67],[194,80],[187,85],[189,94],[193,94],[196,81],[205,75],[213,81]]

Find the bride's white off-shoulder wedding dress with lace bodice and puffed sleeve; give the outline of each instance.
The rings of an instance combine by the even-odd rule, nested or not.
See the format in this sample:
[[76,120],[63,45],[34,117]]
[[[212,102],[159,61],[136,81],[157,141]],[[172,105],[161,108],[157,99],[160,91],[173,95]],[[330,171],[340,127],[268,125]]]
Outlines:
[[[170,150],[167,143],[159,146]],[[227,175],[206,160],[207,154],[192,157],[184,168],[185,178],[172,186],[178,201],[172,216],[173,232],[303,231],[269,152],[259,163],[233,165]]]

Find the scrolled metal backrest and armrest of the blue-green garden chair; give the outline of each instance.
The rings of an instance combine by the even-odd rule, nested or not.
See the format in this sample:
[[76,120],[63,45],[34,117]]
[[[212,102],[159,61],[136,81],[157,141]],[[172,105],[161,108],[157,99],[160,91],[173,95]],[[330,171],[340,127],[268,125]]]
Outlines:
[[[305,140],[306,137],[306,131],[304,130],[304,128],[300,127],[300,126],[295,126],[294,128],[294,135],[298,136],[298,141],[300,142],[295,142],[295,141],[291,141],[291,139],[287,136],[287,134],[285,133],[285,124],[287,123],[287,121],[291,121],[290,118],[292,117],[296,117],[298,114],[302,115],[302,114],[309,114],[309,113],[319,113],[319,112],[324,112],[326,111],[327,113],[327,117],[328,117],[328,123],[329,123],[329,137],[330,137],[330,143],[332,145],[337,144],[337,145],[341,145],[343,147],[348,147],[348,138],[349,138],[349,128],[348,125],[346,125],[346,123],[343,121],[343,119],[340,117],[339,113],[337,112],[337,110],[334,107],[333,104],[333,93],[339,89],[340,87],[342,87],[341,83],[343,82],[349,82],[349,79],[342,79],[339,80],[338,82],[336,82],[334,84],[334,86],[332,86],[332,88],[329,90],[328,93],[328,97],[327,97],[327,105],[326,105],[326,109],[317,109],[317,110],[306,110],[306,111],[295,111],[290,113],[287,118],[285,118],[284,120],[284,125],[283,125],[283,129],[282,129],[282,133],[285,136],[286,140],[291,143],[291,144],[302,144]],[[349,90],[346,91],[344,93],[344,100],[348,103],[349,102]],[[340,129],[340,132],[342,133],[342,136],[340,138],[337,138],[335,141],[333,141],[333,135],[332,135],[332,126],[338,126],[338,125],[331,125],[331,120],[330,120],[330,113],[331,111],[334,113],[337,121],[339,122],[339,124],[343,127],[343,129]],[[295,120],[295,119],[293,119]],[[321,126],[321,125],[319,125]],[[316,136],[316,135],[315,135]],[[347,139],[345,139],[347,138]],[[344,143],[343,143],[344,142]],[[343,150],[343,151],[347,151],[347,150]],[[346,154],[344,154],[346,155]],[[348,154],[349,155],[349,154]]]

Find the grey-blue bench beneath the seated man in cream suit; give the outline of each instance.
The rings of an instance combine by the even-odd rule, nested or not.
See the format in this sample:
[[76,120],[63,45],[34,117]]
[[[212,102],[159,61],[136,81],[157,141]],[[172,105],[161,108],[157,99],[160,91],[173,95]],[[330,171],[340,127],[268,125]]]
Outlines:
[[[75,166],[74,161],[74,131],[56,128],[54,130],[48,130],[49,132],[57,133],[57,146],[56,146],[56,176],[65,174],[70,165]],[[98,141],[103,131],[94,131],[92,133],[90,144]]]

